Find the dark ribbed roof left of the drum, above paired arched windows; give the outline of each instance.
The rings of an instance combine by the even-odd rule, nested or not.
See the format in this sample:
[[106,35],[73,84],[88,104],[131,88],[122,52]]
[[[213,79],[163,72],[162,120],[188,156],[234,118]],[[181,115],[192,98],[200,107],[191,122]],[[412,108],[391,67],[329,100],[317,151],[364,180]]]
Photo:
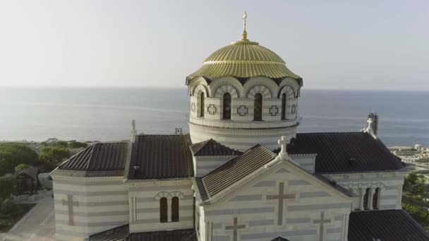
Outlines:
[[128,166],[128,179],[193,176],[189,135],[138,135]]

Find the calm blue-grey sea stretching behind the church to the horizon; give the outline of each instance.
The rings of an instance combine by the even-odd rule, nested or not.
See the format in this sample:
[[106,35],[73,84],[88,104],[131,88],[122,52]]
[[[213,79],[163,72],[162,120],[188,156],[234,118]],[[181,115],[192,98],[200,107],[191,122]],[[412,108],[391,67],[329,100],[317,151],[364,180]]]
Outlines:
[[[186,88],[0,87],[0,140],[127,140],[188,131]],[[388,146],[429,147],[429,92],[301,90],[298,132],[356,132],[379,115]]]

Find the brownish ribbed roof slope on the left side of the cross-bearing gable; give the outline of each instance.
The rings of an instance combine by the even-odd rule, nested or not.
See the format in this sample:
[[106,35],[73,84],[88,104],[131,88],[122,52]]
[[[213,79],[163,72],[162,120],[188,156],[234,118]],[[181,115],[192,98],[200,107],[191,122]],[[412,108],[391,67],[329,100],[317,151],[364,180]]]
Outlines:
[[276,155],[260,144],[255,145],[241,156],[224,163],[201,178],[210,197],[256,171],[272,161]]

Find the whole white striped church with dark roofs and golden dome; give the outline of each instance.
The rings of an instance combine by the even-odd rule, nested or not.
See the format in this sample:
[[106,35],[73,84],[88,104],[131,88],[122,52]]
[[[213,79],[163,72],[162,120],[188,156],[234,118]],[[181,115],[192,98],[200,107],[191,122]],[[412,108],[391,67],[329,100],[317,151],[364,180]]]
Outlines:
[[56,168],[58,240],[429,240],[377,137],[297,132],[303,79],[247,38],[186,78],[189,133],[87,147]]

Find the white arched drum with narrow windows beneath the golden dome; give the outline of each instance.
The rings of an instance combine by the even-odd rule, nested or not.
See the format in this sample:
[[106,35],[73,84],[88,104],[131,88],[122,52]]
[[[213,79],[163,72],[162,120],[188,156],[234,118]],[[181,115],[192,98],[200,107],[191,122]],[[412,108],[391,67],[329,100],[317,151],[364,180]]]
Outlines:
[[[299,88],[292,78],[284,78],[279,85],[263,77],[250,78],[244,85],[233,77],[216,78],[210,85],[204,78],[194,78],[188,85],[192,142],[212,138],[241,151],[255,143],[276,148],[279,137],[290,139],[296,134]],[[231,94],[231,118],[224,118],[226,93]],[[255,94],[262,95],[261,121],[254,120]],[[286,96],[284,107],[283,94]]]

